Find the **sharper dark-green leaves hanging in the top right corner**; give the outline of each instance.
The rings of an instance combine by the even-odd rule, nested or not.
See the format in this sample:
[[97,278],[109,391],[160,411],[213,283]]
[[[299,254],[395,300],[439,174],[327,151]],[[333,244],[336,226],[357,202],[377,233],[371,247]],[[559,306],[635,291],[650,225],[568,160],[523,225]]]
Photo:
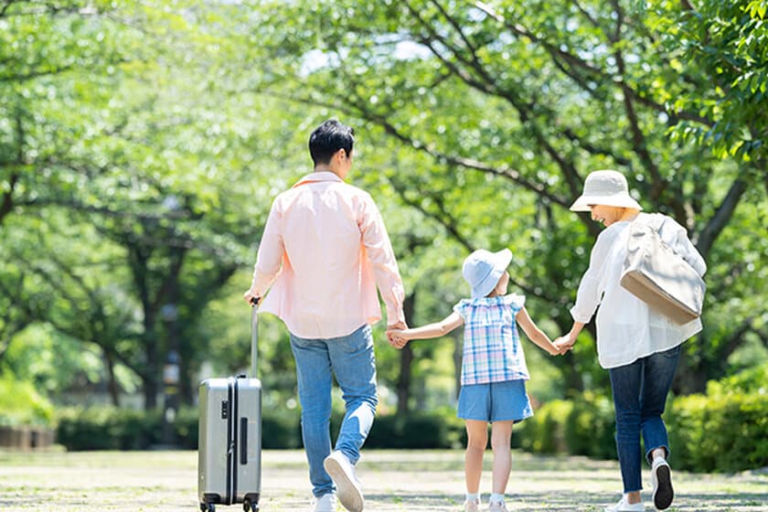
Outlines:
[[669,101],[715,121],[703,127],[679,123],[672,134],[707,144],[720,157],[764,160],[768,155],[765,4],[704,0],[695,10],[678,10],[671,4],[661,2],[651,9],[649,25],[666,35],[661,44],[675,48],[678,58],[671,62],[673,69],[699,76],[699,69],[707,69],[712,81],[694,95],[670,95]]

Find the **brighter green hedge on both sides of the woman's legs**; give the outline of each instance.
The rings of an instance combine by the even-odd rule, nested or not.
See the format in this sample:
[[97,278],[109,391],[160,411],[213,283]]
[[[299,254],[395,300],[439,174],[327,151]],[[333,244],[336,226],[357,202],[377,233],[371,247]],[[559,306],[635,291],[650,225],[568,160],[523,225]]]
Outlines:
[[[768,365],[709,382],[706,395],[670,398],[664,419],[673,467],[709,473],[768,466]],[[549,401],[516,432],[529,452],[616,458],[613,403],[589,392]]]

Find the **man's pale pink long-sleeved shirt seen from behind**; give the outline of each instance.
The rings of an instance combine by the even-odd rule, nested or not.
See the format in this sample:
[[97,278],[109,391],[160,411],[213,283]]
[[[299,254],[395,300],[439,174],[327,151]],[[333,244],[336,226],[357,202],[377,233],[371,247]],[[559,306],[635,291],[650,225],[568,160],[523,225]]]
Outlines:
[[346,336],[381,319],[404,322],[404,289],[379,208],[330,172],[304,176],[272,203],[251,292],[262,312],[304,338]]

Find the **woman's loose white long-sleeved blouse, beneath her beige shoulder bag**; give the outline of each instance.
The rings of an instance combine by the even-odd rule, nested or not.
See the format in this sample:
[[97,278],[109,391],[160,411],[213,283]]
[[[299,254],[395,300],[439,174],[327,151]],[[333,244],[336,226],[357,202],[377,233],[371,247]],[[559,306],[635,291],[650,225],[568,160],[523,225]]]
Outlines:
[[[633,221],[642,222],[648,215],[641,213]],[[629,225],[629,221],[615,222],[597,237],[590,255],[590,268],[581,278],[576,304],[571,308],[573,320],[587,324],[600,305],[596,322],[597,355],[603,368],[621,367],[639,357],[677,347],[701,330],[699,318],[678,325],[650,309],[619,283]],[[688,233],[674,219],[667,217],[660,235],[699,275],[707,272],[707,264],[688,240]]]

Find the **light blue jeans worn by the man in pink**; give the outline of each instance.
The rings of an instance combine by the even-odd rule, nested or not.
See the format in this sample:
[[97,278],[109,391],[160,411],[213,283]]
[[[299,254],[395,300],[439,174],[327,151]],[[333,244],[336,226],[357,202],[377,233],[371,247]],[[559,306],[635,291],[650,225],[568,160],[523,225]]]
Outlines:
[[299,401],[302,405],[302,439],[309,462],[309,480],[316,497],[336,487],[323,462],[331,453],[332,375],[341,388],[347,413],[336,439],[336,450],[357,464],[376,412],[376,359],[369,325],[347,336],[304,339],[291,335],[296,361]]

